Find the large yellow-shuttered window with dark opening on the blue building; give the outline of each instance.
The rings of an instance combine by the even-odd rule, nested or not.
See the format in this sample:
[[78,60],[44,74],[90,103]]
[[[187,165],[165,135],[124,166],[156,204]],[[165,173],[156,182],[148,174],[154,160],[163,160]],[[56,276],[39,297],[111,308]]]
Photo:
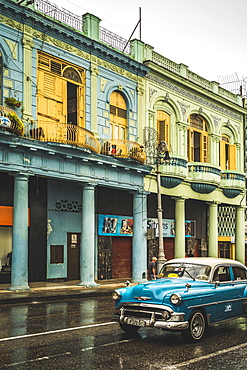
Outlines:
[[38,51],[37,112],[40,121],[84,126],[85,72]]

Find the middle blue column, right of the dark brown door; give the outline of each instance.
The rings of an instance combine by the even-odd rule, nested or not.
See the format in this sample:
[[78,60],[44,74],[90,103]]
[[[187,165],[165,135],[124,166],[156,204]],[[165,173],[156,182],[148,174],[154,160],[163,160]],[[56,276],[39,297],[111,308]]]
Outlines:
[[95,185],[83,186],[82,193],[82,231],[80,253],[80,276],[79,285],[94,287],[98,284],[94,281],[95,266]]

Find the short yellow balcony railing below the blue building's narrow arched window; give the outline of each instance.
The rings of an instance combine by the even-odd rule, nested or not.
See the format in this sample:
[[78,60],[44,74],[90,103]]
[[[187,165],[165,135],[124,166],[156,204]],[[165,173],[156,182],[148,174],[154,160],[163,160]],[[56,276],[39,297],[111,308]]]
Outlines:
[[146,161],[146,153],[143,147],[128,140],[101,140],[101,154],[117,158],[129,158],[140,163]]

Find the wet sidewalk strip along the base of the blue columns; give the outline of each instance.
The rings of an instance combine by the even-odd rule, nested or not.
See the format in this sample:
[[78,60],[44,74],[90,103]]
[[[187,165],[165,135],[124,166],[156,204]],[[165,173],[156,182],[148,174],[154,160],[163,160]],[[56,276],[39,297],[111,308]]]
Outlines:
[[10,284],[0,284],[0,306],[69,298],[110,296],[115,289],[125,287],[124,283],[127,280],[131,281],[131,278],[99,280],[96,283],[100,285],[93,288],[78,286],[79,280],[31,282],[29,283],[30,290],[24,292],[13,292],[8,290]]

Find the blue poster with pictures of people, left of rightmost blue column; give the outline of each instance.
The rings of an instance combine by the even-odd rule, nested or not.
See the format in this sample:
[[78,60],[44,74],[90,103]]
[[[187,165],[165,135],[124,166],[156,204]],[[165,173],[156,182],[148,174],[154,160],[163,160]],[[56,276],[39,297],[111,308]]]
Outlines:
[[98,215],[98,235],[133,236],[133,217]]

